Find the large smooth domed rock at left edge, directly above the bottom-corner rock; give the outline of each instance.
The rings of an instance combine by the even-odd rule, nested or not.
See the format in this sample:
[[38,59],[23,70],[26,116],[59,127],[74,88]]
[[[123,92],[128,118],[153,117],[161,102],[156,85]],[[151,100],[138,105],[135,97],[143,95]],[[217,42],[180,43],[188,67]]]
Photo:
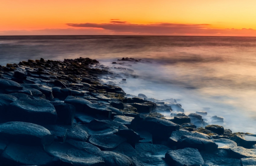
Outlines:
[[54,135],[44,128],[27,122],[7,122],[0,124],[0,139],[28,144],[49,145],[54,140]]

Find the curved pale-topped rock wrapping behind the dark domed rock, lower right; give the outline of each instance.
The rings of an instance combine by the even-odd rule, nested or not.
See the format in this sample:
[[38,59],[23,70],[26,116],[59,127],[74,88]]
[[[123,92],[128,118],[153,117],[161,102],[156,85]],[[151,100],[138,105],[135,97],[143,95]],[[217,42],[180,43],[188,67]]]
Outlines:
[[187,130],[178,130],[178,131],[172,132],[171,136],[168,138],[168,145],[176,146],[178,140],[182,136],[193,136],[193,137],[198,137],[198,138],[203,138],[203,139],[210,139],[210,137],[208,135],[200,133],[200,132],[189,132]]

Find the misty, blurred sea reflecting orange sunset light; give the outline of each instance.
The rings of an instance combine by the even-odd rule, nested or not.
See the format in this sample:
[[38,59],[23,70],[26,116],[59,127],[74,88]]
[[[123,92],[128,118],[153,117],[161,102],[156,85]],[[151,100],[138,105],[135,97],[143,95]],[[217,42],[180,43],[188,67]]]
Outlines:
[[[207,111],[210,124],[217,115],[233,132],[256,133],[254,37],[0,36],[0,65],[41,57],[97,59],[120,75],[102,81],[127,94],[174,98],[185,114]],[[147,62],[112,64],[123,57]]]

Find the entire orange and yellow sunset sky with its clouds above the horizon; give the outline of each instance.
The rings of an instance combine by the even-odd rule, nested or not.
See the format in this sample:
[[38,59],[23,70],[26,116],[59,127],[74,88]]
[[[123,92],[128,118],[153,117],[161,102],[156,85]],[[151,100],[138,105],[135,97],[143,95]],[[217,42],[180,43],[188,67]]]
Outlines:
[[0,0],[0,35],[256,36],[255,0]]

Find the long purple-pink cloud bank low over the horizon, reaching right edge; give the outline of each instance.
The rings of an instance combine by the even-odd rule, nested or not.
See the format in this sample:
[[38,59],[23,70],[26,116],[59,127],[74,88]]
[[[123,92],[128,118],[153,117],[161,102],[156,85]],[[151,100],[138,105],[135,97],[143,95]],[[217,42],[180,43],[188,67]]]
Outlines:
[[[115,24],[122,23],[122,24]],[[217,29],[211,28],[210,24],[174,24],[174,23],[151,23],[151,24],[131,24],[126,21],[111,21],[105,24],[84,23],[67,24],[71,27],[102,28],[111,30],[113,33],[133,33],[152,35],[213,35],[213,36],[253,36],[256,31],[253,29]]]

